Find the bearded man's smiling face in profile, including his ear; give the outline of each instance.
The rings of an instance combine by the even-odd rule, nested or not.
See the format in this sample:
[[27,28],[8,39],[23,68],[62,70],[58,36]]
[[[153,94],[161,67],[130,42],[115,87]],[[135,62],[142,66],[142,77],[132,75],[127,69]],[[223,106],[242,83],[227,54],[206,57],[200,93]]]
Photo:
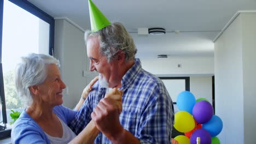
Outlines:
[[92,37],[88,39],[87,42],[87,55],[90,59],[90,71],[96,70],[100,73],[99,81],[102,85],[102,82],[105,85],[103,87],[110,87],[113,88],[118,85],[117,79],[117,62],[107,61],[107,57],[101,55],[100,53],[100,41],[96,37]]

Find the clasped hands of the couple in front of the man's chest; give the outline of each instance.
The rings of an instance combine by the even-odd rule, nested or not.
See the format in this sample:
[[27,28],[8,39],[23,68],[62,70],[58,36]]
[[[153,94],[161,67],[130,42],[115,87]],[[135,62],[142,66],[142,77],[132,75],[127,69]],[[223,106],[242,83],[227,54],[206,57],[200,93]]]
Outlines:
[[97,129],[109,139],[123,130],[119,122],[119,115],[122,111],[122,95],[122,91],[118,91],[117,88],[112,89],[91,113],[92,121]]

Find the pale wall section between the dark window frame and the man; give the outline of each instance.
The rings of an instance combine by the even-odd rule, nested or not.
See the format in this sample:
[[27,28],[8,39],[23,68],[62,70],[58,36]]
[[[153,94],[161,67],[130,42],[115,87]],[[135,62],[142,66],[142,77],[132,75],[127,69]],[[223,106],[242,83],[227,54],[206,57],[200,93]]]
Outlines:
[[63,91],[63,105],[72,108],[77,104],[86,86],[83,70],[86,67],[84,32],[65,19],[55,20],[55,57],[60,60]]

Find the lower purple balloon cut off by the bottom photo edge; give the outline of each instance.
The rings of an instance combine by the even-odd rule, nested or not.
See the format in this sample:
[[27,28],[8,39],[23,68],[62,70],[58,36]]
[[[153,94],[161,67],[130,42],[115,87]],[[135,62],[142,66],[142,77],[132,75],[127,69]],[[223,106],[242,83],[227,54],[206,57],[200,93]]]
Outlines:
[[201,144],[211,144],[212,137],[210,133],[205,129],[197,129],[190,137],[190,143],[196,144],[196,137],[200,137]]

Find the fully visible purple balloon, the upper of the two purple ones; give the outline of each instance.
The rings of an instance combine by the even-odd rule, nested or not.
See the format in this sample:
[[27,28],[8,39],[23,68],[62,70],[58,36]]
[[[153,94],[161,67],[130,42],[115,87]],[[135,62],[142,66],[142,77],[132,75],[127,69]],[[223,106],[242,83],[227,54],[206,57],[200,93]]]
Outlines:
[[193,116],[197,123],[210,121],[213,115],[212,105],[205,100],[198,101],[193,107]]

